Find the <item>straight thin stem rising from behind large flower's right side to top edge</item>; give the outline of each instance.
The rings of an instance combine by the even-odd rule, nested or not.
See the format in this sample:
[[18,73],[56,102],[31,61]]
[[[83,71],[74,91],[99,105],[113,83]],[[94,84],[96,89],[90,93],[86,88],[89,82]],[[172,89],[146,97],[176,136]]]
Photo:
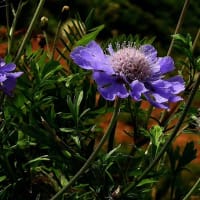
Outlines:
[[[183,8],[182,8],[182,11],[181,11],[181,14],[180,14],[180,17],[178,19],[178,23],[176,25],[176,29],[174,31],[174,35],[177,34],[179,31],[180,31],[180,28],[181,28],[181,25],[183,23],[183,20],[184,20],[184,17],[185,17],[185,14],[186,14],[186,11],[187,11],[187,8],[189,6],[189,3],[190,3],[190,0],[185,0],[185,3],[183,5]],[[170,43],[170,46],[169,46],[169,49],[168,49],[168,52],[167,52],[167,55],[169,56],[172,52],[172,47],[174,45],[174,38],[171,40],[171,43]]]

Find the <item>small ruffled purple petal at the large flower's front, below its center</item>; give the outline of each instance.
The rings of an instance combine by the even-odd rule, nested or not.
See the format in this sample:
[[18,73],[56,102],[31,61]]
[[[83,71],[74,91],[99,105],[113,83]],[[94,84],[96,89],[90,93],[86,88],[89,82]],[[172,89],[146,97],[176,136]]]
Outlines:
[[144,84],[142,82],[139,82],[138,80],[133,81],[130,84],[131,88],[131,97],[133,97],[136,101],[141,100],[141,95],[148,90],[145,88]]

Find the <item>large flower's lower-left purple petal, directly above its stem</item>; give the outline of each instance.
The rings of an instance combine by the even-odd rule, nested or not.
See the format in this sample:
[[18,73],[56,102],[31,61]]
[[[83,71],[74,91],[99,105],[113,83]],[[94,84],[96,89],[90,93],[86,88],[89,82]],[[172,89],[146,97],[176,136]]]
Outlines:
[[113,101],[116,97],[128,97],[129,93],[125,85],[116,76],[110,76],[104,72],[94,72],[93,78],[98,85],[99,92],[106,100]]

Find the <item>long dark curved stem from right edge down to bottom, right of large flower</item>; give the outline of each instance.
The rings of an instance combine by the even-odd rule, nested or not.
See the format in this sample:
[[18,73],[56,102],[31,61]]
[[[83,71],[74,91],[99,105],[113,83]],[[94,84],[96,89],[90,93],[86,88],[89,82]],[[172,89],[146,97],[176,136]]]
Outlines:
[[140,177],[138,177],[134,182],[132,182],[127,188],[124,189],[124,191],[122,192],[123,194],[127,193],[129,190],[131,190],[133,187],[135,187],[152,169],[153,167],[157,164],[157,162],[160,160],[160,158],[163,156],[163,154],[165,153],[165,151],[167,150],[169,144],[172,142],[172,140],[174,139],[174,137],[176,136],[176,134],[178,133],[186,115],[187,112],[190,108],[190,105],[192,103],[192,100],[195,96],[196,91],[198,90],[198,87],[200,85],[200,73],[198,74],[196,83],[190,93],[190,96],[187,100],[186,106],[183,110],[183,113],[178,121],[178,123],[176,124],[172,134],[170,135],[169,139],[167,140],[167,142],[164,144],[164,146],[162,147],[162,149],[160,150],[160,152],[158,153],[158,155],[155,157],[155,159],[150,163],[149,167],[144,170],[144,172],[142,173],[142,175]]

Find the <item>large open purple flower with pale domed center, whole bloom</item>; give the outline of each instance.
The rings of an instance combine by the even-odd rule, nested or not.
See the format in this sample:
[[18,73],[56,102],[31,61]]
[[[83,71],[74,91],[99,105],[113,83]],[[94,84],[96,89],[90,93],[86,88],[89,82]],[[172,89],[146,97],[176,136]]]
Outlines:
[[177,102],[184,90],[180,76],[163,79],[174,70],[171,57],[158,57],[152,45],[135,47],[131,43],[117,44],[115,51],[110,44],[105,54],[91,41],[87,46],[76,47],[71,58],[83,69],[92,70],[101,95],[107,100],[129,95],[136,101],[145,97],[153,106],[168,109],[168,102]]

